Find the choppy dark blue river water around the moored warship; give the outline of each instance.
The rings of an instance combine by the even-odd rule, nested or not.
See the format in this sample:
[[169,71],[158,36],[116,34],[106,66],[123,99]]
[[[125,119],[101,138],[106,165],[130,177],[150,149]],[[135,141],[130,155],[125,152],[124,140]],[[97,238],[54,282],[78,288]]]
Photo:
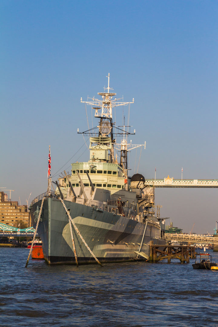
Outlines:
[[218,326],[218,271],[194,260],[25,268],[28,253],[0,248],[1,327]]

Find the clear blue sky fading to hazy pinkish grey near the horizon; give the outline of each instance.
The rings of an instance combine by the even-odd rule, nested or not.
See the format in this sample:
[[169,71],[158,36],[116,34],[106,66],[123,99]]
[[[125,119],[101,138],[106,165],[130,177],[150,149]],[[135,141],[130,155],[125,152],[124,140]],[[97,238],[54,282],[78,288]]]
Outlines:
[[[181,178],[183,167],[183,179],[218,179],[218,1],[2,0],[0,12],[0,186],[13,200],[46,190],[49,145],[53,175],[84,144],[80,98],[102,92],[108,73],[117,97],[135,99],[145,178],[155,167],[156,178]],[[85,150],[63,169],[87,161]],[[217,198],[218,189],[156,189],[161,216],[184,232],[213,232]]]

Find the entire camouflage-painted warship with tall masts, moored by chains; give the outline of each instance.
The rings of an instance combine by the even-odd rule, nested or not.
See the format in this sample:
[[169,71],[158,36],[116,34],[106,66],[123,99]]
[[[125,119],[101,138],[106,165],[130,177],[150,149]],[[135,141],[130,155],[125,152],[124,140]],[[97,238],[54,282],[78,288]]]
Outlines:
[[[128,174],[128,152],[145,143],[128,143],[135,130],[131,133],[125,120],[122,127],[112,120],[114,108],[130,106],[134,98],[132,102],[116,98],[107,77],[108,87],[98,93],[101,100],[81,98],[98,120],[96,127],[81,133],[90,137],[89,160],[72,163],[71,174],[64,171],[54,191],[48,176],[47,192],[29,207],[49,265],[148,260],[150,241],[166,243],[164,222],[155,211],[154,188],[138,172],[131,178]],[[119,163],[115,151],[120,153]]]

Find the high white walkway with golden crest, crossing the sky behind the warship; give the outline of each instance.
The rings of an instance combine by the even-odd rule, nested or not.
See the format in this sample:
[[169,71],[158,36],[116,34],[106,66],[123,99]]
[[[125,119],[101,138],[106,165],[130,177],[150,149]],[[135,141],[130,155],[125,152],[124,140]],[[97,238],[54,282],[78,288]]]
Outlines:
[[173,177],[167,177],[163,180],[145,180],[148,187],[218,187],[218,180],[175,180]]

